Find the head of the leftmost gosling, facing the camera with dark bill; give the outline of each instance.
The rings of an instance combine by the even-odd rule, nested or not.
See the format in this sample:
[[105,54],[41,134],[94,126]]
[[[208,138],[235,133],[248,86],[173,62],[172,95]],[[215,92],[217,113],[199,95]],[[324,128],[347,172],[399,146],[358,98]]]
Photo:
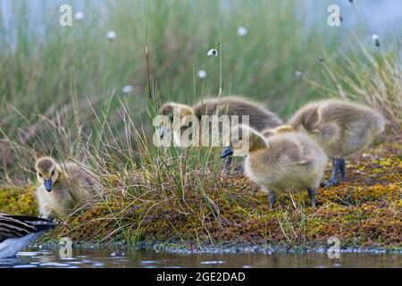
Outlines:
[[54,159],[50,157],[39,158],[37,164],[35,164],[35,170],[37,171],[39,183],[44,184],[46,190],[51,192],[54,182],[59,178],[57,164]]

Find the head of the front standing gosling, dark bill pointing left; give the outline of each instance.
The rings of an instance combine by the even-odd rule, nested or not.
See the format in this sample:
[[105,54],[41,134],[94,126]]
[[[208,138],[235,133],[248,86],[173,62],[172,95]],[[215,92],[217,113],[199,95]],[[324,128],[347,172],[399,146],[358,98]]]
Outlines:
[[223,149],[221,158],[227,156],[247,156],[262,148],[268,148],[264,136],[247,125],[238,125],[230,130],[230,139]]

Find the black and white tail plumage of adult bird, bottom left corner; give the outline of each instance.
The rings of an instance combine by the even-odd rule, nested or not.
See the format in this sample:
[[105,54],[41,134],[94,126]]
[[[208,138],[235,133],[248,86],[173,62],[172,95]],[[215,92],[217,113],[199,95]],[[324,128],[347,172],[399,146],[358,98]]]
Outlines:
[[0,258],[13,257],[57,223],[34,216],[0,214]]

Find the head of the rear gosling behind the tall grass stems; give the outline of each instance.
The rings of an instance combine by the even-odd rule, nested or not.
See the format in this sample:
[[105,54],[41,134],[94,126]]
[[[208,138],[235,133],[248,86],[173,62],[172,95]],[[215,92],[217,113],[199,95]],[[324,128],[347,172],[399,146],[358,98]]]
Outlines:
[[[181,117],[186,115],[194,115],[194,110],[188,105],[180,105],[174,102],[162,105],[160,114],[168,116],[172,129],[180,130]],[[168,122],[163,122],[163,126],[159,128],[159,136],[161,139],[171,131]]]

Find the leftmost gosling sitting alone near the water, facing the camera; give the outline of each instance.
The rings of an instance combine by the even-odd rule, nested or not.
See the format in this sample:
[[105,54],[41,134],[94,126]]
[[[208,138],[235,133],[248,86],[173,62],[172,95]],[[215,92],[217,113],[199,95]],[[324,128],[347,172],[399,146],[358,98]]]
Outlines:
[[39,158],[35,164],[39,212],[44,218],[62,218],[80,202],[93,197],[101,189],[96,176],[79,164],[57,164],[51,157]]

